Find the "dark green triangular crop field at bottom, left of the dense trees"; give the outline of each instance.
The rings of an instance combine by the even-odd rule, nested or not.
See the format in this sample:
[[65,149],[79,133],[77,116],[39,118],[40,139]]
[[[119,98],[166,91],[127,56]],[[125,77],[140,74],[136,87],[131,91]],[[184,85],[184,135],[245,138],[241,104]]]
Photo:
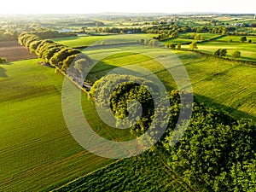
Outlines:
[[[164,154],[152,156],[148,152],[119,160],[96,172],[67,183],[61,191],[189,191],[189,185],[174,174],[162,161]],[[108,181],[103,183],[102,181]],[[192,191],[192,190],[191,190]]]

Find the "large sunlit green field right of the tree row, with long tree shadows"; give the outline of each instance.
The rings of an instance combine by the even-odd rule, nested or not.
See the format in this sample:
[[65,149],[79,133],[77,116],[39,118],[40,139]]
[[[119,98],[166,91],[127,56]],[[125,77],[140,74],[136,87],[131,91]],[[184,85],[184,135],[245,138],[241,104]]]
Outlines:
[[[124,51],[126,54],[120,52]],[[165,84],[167,90],[176,87],[171,75],[165,68],[152,58],[143,55],[166,55],[169,49],[160,49],[143,45],[125,46],[117,49],[86,50],[84,53],[97,60],[98,56],[114,55],[107,57],[96,64],[89,78],[92,81],[101,78],[113,67],[136,64],[146,67],[154,72]],[[127,53],[128,52],[128,53]],[[138,54],[134,54],[137,52]],[[242,65],[239,62],[224,61],[199,55],[196,53],[175,51],[186,67],[192,82],[195,98],[206,102],[209,106],[223,108],[236,118],[247,117],[256,119],[255,92],[256,68]]]

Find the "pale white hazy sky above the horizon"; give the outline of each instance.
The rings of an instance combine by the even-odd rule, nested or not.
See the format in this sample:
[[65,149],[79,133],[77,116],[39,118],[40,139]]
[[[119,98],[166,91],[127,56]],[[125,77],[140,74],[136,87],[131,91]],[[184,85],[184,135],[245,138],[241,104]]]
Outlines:
[[0,14],[218,12],[256,14],[255,0],[3,0]]

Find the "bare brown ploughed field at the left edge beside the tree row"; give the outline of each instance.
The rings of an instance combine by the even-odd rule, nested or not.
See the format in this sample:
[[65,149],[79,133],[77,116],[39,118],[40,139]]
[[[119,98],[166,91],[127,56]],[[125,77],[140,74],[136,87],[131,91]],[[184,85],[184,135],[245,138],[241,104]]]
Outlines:
[[7,61],[18,61],[23,59],[36,58],[37,55],[30,54],[28,50],[17,41],[0,42],[0,57],[5,57]]

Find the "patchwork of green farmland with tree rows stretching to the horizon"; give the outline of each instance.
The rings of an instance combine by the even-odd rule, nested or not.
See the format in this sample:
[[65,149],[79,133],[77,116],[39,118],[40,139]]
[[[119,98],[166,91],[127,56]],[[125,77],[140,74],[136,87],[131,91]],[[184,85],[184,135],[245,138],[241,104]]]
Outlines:
[[[8,60],[0,64],[0,191],[253,191],[256,22],[252,15],[33,15],[17,23],[2,20],[0,41],[18,38],[24,47],[13,40],[0,42],[0,57]],[[241,37],[247,40],[241,42]],[[192,42],[197,42],[196,48]],[[227,55],[214,55],[217,49],[227,49]],[[235,51],[241,56],[235,58]],[[169,55],[187,70],[195,98],[187,130],[175,146],[171,142],[181,134],[174,129],[183,92],[177,91],[168,71],[175,71],[176,62],[167,70],[158,60]],[[75,141],[62,112],[63,98],[68,105],[81,102],[84,118],[97,135],[115,143],[139,137],[156,113],[148,90],[128,82],[113,91],[110,109],[116,119],[130,113],[129,102],[142,102],[143,114],[129,129],[106,125],[93,94],[102,77],[130,65],[148,69],[166,87],[171,113],[163,123],[168,125],[158,143],[143,154],[106,159]],[[77,101],[72,91],[70,97],[63,95],[65,73],[68,84],[78,80],[89,84],[89,96],[81,91]],[[102,95],[111,82],[119,83],[119,75],[110,77]],[[83,90],[78,84],[73,89]],[[82,122],[77,109],[72,116]],[[93,148],[106,151],[103,145]]]

